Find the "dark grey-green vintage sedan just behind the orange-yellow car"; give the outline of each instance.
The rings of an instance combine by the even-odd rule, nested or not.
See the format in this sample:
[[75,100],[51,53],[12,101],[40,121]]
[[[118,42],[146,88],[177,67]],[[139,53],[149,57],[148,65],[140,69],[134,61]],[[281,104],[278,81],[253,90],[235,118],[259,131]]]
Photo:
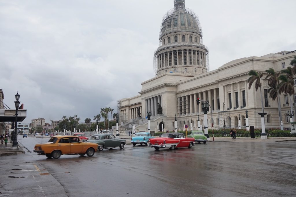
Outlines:
[[126,140],[115,138],[113,134],[110,133],[99,133],[94,134],[91,138],[85,142],[91,142],[98,144],[99,151],[102,151],[104,148],[116,148],[119,147],[122,149],[126,144]]

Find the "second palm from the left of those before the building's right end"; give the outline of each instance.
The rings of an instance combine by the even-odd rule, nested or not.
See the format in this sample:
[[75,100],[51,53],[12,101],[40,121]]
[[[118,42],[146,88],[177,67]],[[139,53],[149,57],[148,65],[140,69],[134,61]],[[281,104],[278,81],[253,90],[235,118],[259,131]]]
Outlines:
[[278,103],[278,110],[279,110],[279,122],[282,122],[282,117],[281,117],[281,100],[279,95],[279,73],[276,73],[274,71],[273,68],[269,68],[268,70],[266,70],[267,72],[267,76],[266,79],[269,77],[268,79],[268,85],[270,86],[270,88],[268,89],[268,93],[269,93],[269,97],[272,99],[272,101],[274,101],[276,99],[277,103]]

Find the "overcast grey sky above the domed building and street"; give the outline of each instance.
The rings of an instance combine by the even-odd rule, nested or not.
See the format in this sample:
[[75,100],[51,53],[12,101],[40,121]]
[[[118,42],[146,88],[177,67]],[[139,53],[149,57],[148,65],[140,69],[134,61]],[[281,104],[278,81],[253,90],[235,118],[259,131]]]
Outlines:
[[[199,17],[210,70],[234,59],[296,50],[295,0],[186,0]],[[1,0],[0,89],[31,119],[78,114],[136,96],[153,77],[173,0]],[[111,116],[111,115],[110,115]]]

